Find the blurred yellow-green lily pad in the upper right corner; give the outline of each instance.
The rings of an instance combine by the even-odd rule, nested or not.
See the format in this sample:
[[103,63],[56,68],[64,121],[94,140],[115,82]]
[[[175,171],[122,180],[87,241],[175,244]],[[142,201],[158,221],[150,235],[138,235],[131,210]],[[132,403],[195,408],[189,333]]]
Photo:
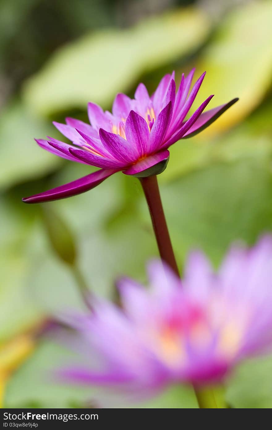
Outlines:
[[209,108],[240,100],[201,133],[210,136],[246,117],[263,100],[272,83],[272,2],[260,0],[233,9],[197,62],[207,71],[196,105],[215,94]]

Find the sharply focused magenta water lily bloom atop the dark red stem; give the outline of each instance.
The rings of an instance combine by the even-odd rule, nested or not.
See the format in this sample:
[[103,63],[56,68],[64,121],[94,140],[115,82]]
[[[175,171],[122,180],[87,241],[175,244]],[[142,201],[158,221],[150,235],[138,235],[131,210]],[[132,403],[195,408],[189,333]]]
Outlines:
[[80,194],[118,171],[139,177],[161,173],[168,162],[168,148],[173,143],[201,132],[238,100],[202,113],[213,97],[210,95],[185,120],[205,76],[202,74],[189,91],[193,74],[194,70],[187,77],[182,75],[177,93],[173,72],[162,78],[151,97],[143,83],[136,89],[134,99],[117,94],[112,113],[89,103],[90,124],[73,118],[66,118],[66,124],[54,123],[73,144],[54,138],[36,139],[37,143],[52,154],[100,170],[23,201],[38,203]]

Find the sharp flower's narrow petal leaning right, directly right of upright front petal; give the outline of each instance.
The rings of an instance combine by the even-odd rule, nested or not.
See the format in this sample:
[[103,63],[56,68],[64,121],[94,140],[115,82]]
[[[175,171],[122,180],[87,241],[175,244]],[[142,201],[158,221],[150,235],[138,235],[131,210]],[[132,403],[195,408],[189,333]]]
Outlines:
[[172,102],[169,101],[168,105],[159,113],[159,116],[156,118],[151,129],[148,142],[149,152],[156,151],[156,149],[162,144],[165,132],[171,121],[172,112]]

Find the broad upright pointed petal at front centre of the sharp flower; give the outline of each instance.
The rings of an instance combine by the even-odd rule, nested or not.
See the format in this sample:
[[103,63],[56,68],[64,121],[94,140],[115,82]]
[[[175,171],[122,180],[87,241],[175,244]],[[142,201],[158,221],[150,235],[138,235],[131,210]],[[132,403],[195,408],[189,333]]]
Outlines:
[[137,148],[138,157],[143,157],[147,153],[149,128],[146,120],[134,111],[130,112],[125,122],[125,136],[129,143]]

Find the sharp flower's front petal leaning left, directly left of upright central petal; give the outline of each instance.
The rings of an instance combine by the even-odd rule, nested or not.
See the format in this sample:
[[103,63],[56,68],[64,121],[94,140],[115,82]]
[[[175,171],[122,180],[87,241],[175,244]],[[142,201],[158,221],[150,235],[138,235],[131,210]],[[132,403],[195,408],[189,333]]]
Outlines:
[[[104,147],[122,165],[125,166],[139,158],[138,149],[127,140],[115,133],[99,130],[99,136]],[[125,164],[124,164],[125,163]]]

